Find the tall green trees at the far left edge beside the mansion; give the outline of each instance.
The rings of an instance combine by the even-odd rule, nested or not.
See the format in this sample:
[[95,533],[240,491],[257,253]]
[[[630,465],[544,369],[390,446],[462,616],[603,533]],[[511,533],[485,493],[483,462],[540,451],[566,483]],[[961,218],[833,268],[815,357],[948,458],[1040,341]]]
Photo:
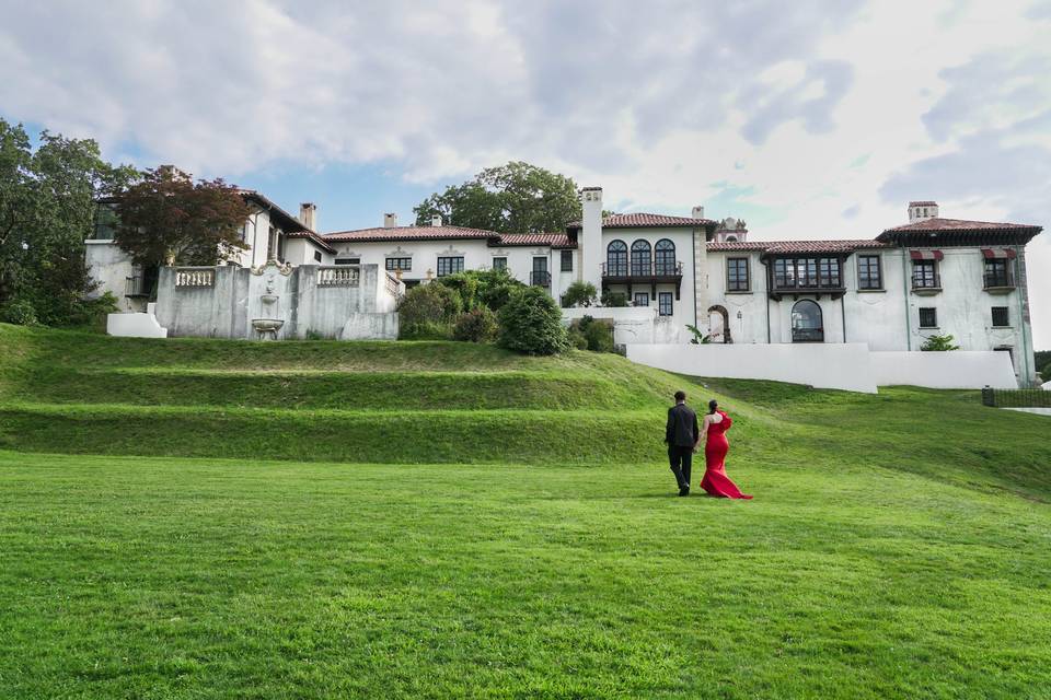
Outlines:
[[136,176],[93,140],[44,131],[34,150],[22,125],[0,119],[0,316],[70,325],[107,311],[112,298],[86,298],[84,240],[95,200]]

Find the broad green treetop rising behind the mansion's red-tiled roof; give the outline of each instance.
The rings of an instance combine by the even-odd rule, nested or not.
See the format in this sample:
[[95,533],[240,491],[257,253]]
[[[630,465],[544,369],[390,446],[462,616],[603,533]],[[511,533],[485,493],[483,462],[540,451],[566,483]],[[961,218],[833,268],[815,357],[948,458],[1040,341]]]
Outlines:
[[521,161],[489,167],[417,207],[416,224],[435,215],[452,225],[499,233],[564,231],[581,218],[577,185],[565,175]]

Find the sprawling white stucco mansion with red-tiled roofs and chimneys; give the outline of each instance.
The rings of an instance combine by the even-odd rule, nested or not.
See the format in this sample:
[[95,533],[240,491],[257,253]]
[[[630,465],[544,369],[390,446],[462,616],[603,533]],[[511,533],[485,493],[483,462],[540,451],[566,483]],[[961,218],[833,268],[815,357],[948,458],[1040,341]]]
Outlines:
[[[159,280],[157,322],[172,335],[252,337],[256,322],[275,316],[275,338],[354,338],[396,336],[389,316],[405,288],[506,268],[556,300],[576,281],[622,294],[626,307],[565,310],[567,318],[612,318],[619,342],[690,342],[688,325],[714,343],[865,343],[873,351],[915,351],[931,336],[951,335],[963,350],[1008,353],[1024,384],[1035,377],[1025,246],[1037,225],[945,219],[936,202],[913,201],[908,223],[871,238],[757,241],[744,222],[706,219],[702,207],[690,217],[603,217],[602,189],[588,187],[581,221],[565,231],[501,234],[439,218],[405,226],[388,213],[382,226],[321,233],[314,205],[293,217],[258,192],[242,194],[252,215],[246,249],[224,266],[232,269],[140,270],[113,244],[103,206],[88,241],[93,275],[127,311],[143,311]],[[330,306],[344,302],[321,301],[344,300],[333,288],[366,280],[372,288],[353,292],[365,300],[353,308],[334,315]],[[199,293],[222,284],[222,299]],[[270,296],[280,301],[251,307]],[[209,323],[217,314],[223,320]]]

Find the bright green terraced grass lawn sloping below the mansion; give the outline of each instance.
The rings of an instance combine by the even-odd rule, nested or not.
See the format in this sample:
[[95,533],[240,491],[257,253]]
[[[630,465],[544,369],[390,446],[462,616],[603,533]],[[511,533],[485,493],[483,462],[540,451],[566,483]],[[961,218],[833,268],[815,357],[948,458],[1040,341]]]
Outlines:
[[[975,393],[463,343],[0,350],[0,698],[1051,697],[1048,419]],[[679,386],[738,419],[754,501],[673,495]]]

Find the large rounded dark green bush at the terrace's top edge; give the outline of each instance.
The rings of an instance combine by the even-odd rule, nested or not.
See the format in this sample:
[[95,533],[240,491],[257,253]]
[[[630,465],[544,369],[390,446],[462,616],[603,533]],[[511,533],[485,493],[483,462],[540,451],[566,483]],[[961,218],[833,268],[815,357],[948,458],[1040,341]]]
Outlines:
[[527,354],[557,354],[569,347],[562,311],[539,287],[512,292],[500,308],[497,343]]

